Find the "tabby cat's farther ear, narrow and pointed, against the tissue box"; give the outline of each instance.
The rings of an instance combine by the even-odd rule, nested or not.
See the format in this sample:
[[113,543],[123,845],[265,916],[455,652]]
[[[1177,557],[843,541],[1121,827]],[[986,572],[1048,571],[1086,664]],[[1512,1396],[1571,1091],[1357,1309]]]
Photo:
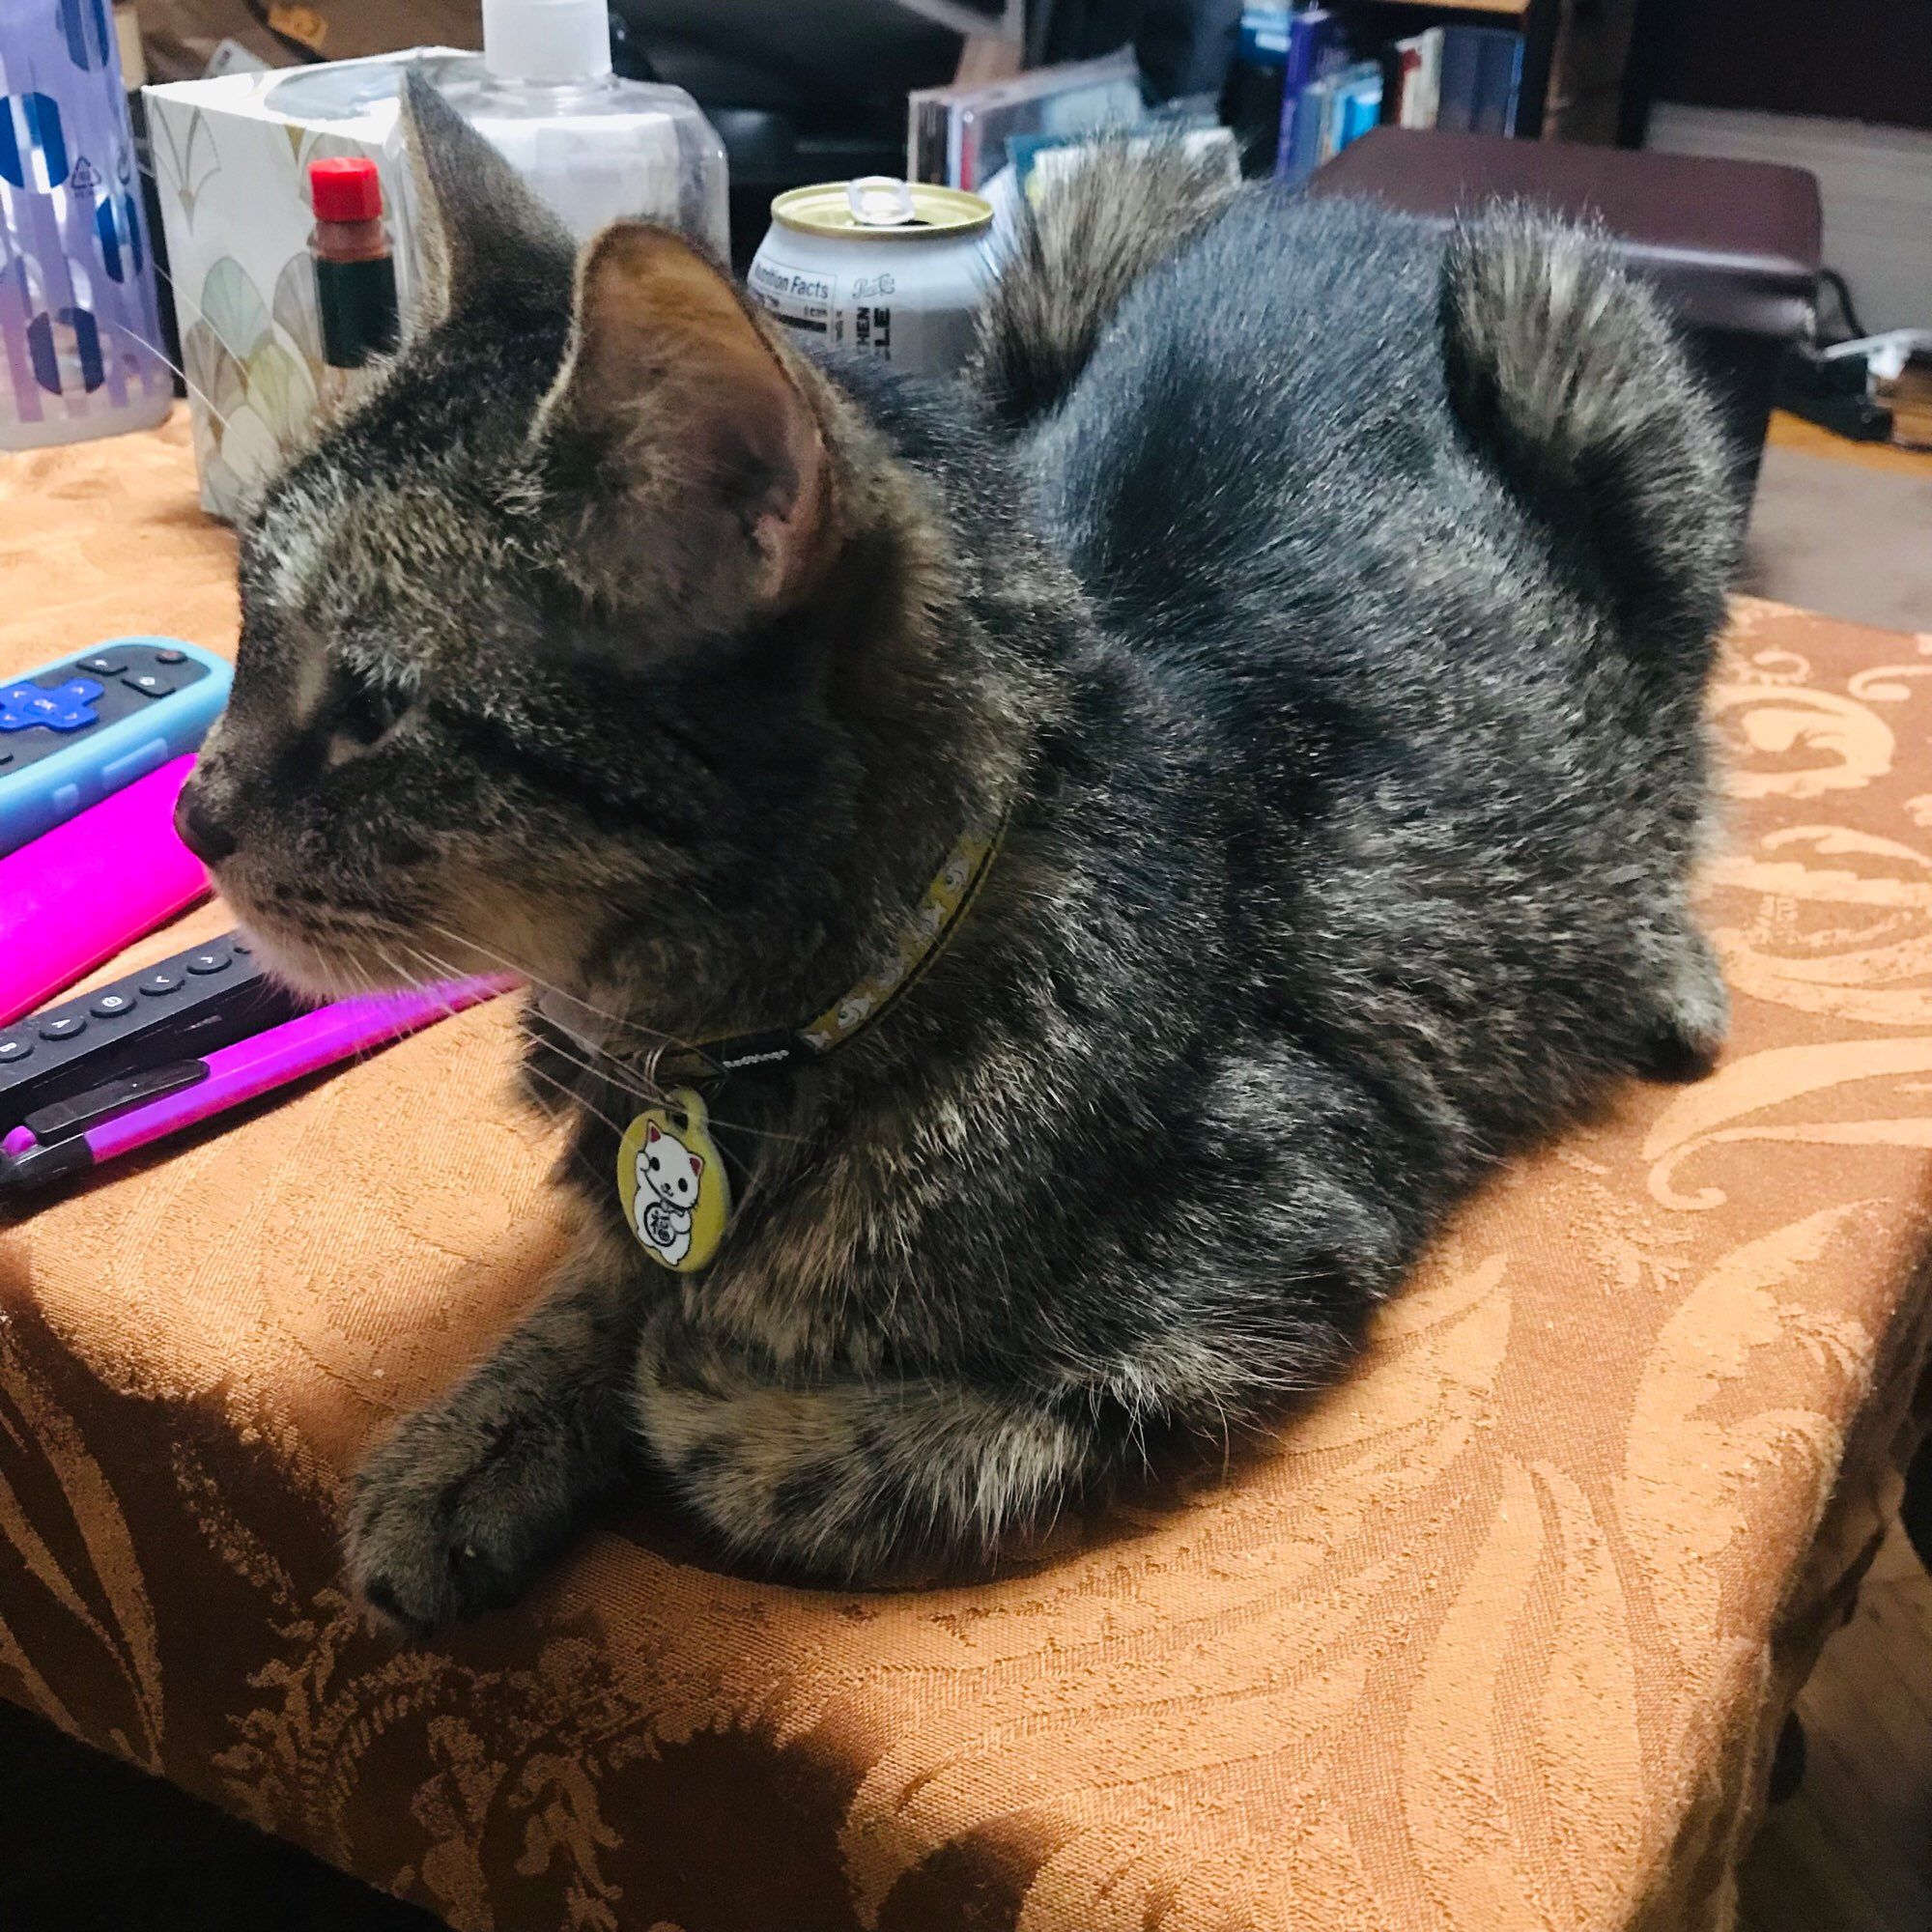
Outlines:
[[566,286],[576,243],[564,224],[413,64],[402,79],[402,131],[417,203],[412,328],[518,284]]

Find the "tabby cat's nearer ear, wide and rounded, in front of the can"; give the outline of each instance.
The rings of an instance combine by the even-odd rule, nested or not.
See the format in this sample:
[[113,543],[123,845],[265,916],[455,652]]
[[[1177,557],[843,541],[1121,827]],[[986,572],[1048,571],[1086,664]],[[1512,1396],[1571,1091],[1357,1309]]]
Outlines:
[[777,611],[831,556],[819,417],[730,280],[667,228],[618,222],[585,251],[543,433],[587,493],[585,535],[634,582]]

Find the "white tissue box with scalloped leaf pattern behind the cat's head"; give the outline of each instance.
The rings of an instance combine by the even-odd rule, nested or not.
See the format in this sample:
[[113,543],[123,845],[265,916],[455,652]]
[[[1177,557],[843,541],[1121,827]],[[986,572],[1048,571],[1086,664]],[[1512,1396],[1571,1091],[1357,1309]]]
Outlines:
[[311,160],[375,160],[408,307],[415,187],[396,95],[402,60],[425,54],[464,58],[427,48],[145,91],[201,504],[214,516],[240,518],[317,415],[325,369]]

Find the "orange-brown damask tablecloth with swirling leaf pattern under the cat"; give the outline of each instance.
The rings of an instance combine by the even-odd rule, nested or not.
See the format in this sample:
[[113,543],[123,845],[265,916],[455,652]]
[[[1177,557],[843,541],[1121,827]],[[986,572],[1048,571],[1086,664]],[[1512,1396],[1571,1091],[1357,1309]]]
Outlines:
[[[180,421],[0,469],[0,670],[230,643],[191,495]],[[1911,1435],[1932,638],[1741,605],[1716,719],[1721,1068],[1497,1180],[1275,1439],[976,1588],[643,1497],[371,1633],[344,1470],[562,1240],[498,1003],[0,1225],[0,1692],[471,1932],[1718,1932]]]

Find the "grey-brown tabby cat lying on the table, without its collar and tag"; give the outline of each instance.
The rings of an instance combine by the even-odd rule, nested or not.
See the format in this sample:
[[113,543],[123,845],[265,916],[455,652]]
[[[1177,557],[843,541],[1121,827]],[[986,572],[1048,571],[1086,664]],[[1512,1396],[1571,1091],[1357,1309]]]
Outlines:
[[[665,230],[574,259],[410,110],[435,296],[245,527],[182,804],[298,987],[549,989],[582,1231],[361,1470],[371,1605],[504,1602],[624,1484],[773,1575],[972,1569],[1279,1418],[1503,1155],[1708,1065],[1737,518],[1594,240],[1113,153],[929,383]],[[825,1010],[1001,821],[881,1020],[711,1094],[736,1211],[659,1265],[653,1049]]]

